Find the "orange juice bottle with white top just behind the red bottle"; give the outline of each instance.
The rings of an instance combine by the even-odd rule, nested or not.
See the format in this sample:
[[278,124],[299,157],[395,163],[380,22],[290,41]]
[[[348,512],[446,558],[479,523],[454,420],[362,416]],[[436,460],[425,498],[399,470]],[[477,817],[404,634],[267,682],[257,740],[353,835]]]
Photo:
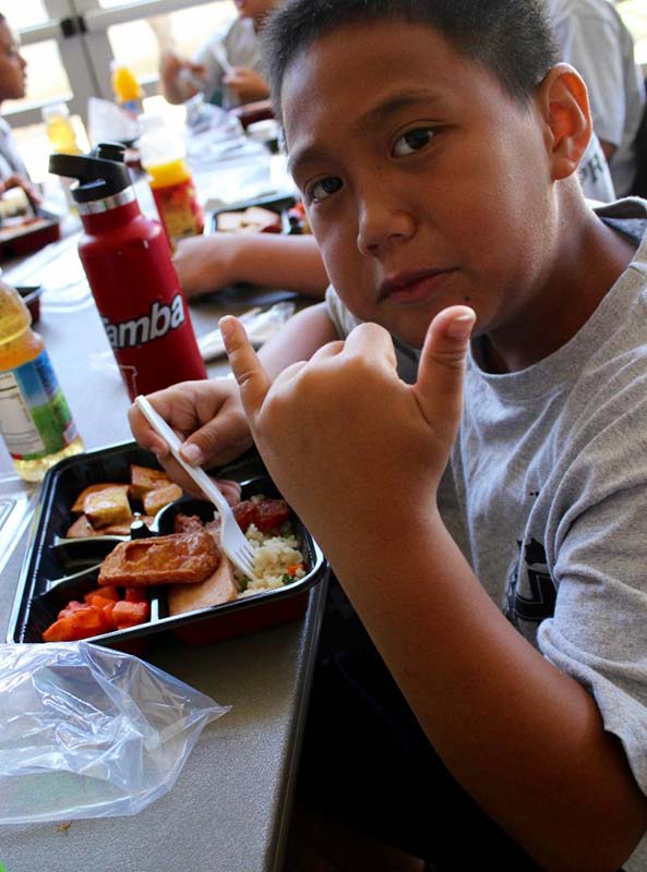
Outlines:
[[184,237],[204,230],[191,170],[180,133],[163,116],[140,116],[140,155],[171,249]]

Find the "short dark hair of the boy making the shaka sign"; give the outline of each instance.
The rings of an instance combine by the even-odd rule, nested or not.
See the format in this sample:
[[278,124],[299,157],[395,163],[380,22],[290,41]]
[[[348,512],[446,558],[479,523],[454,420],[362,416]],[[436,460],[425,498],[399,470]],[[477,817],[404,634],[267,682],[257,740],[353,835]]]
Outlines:
[[381,21],[433,27],[526,104],[559,58],[544,5],[544,0],[285,0],[263,33],[276,114],[283,114],[284,76],[308,46],[345,25]]

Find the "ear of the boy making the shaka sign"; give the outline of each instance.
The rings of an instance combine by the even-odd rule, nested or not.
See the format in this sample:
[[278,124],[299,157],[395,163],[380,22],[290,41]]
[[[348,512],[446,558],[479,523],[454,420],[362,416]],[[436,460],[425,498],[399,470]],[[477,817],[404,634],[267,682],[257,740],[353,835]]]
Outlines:
[[572,175],[589,144],[592,126],[586,85],[567,63],[546,75],[537,94],[554,181]]

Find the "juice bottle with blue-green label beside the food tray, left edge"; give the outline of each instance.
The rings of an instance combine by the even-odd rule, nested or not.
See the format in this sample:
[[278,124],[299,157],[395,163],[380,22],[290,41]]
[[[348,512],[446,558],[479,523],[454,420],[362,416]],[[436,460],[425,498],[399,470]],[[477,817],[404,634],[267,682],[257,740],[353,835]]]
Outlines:
[[43,338],[17,291],[0,281],[0,432],[19,475],[39,482],[83,451]]

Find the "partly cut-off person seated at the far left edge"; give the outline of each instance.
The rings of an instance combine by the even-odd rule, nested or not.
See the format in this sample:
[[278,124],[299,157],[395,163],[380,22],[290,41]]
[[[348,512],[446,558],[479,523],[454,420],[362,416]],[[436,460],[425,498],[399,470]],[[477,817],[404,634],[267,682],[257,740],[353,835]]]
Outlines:
[[[20,53],[17,39],[0,12],[0,107],[4,100],[20,100],[25,96],[26,69],[27,62]],[[0,118],[0,194],[11,187],[24,189],[32,204],[40,202],[15,147],[11,128]]]

